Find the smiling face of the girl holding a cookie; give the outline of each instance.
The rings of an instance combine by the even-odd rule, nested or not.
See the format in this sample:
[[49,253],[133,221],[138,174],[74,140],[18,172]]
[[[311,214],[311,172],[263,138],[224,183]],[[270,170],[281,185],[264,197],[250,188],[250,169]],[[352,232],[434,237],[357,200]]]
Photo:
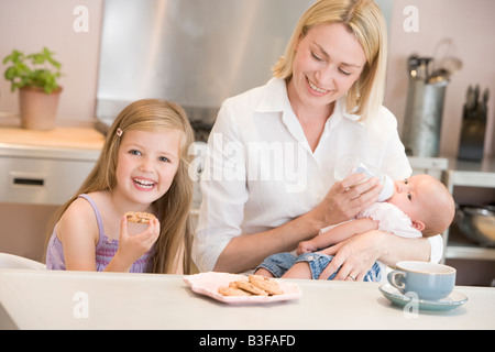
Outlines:
[[125,131],[117,163],[117,189],[127,199],[150,205],[168,190],[179,166],[178,130]]

